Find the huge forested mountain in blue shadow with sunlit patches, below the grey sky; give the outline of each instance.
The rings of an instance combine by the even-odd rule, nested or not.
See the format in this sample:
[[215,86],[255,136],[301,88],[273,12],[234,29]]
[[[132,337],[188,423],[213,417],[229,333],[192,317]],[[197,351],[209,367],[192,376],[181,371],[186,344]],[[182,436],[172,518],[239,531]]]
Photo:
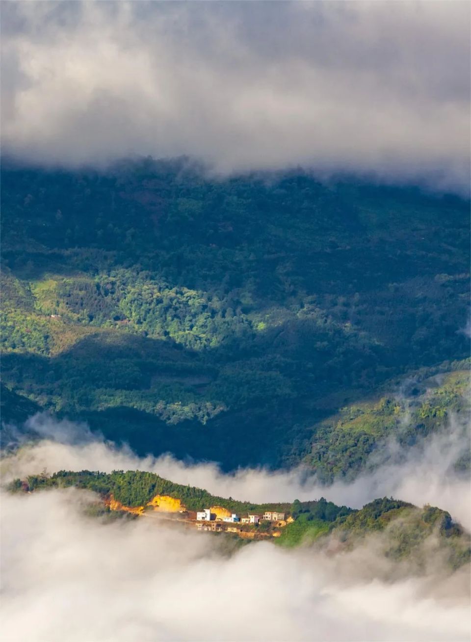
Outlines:
[[4,162],[1,201],[6,406],[326,480],[463,408],[466,201],[187,159]]

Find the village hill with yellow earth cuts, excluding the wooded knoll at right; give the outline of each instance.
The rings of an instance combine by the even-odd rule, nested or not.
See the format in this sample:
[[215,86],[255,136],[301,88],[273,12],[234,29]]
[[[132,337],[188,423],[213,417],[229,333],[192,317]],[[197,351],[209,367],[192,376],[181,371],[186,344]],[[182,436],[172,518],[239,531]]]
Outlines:
[[[111,519],[145,517],[166,521],[175,528],[225,533],[243,539],[280,538],[280,544],[299,543],[309,531],[311,539],[329,531],[330,524],[354,513],[324,498],[293,503],[256,504],[211,495],[207,490],[181,485],[145,471],[58,471],[13,480],[12,492],[76,487],[96,493],[92,515]],[[109,513],[115,513],[110,516]],[[121,515],[120,515],[121,514]]]

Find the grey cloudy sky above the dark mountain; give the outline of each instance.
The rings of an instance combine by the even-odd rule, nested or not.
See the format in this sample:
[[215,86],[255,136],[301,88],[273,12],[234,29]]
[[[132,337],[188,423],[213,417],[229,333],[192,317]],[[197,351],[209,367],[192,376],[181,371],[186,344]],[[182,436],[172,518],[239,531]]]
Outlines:
[[470,4],[2,3],[4,155],[191,155],[467,193]]

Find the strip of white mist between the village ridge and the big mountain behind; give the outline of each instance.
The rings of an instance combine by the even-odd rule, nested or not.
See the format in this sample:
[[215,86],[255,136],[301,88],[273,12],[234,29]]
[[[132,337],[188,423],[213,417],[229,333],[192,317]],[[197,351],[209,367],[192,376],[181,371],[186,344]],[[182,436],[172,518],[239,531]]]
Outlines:
[[[471,528],[471,489],[468,478],[456,474],[453,464],[469,451],[469,425],[453,418],[448,430],[433,435],[404,452],[391,442],[389,462],[354,482],[338,481],[331,486],[318,483],[311,471],[303,468],[271,472],[266,469],[239,469],[221,473],[214,463],[186,465],[171,455],[139,458],[127,447],[117,447],[92,437],[86,424],[57,422],[48,415],[35,415],[26,423],[28,431],[39,431],[36,444],[23,446],[3,459],[4,480],[38,473],[46,468],[58,470],[89,469],[110,473],[113,470],[141,470],[160,474],[175,483],[190,484],[222,497],[242,501],[307,501],[321,496],[339,505],[361,508],[379,497],[393,496],[418,506],[429,503],[448,510],[454,519]],[[82,431],[83,438],[80,438]],[[69,436],[67,436],[69,435]],[[60,442],[56,439],[60,438]],[[400,456],[398,456],[400,455]]]

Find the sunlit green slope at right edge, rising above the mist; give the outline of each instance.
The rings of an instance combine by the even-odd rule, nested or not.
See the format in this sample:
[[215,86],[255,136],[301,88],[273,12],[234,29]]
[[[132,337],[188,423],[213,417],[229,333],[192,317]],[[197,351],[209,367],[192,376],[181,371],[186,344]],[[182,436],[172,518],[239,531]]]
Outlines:
[[[466,366],[467,361],[456,364],[459,368]],[[388,381],[382,386],[381,396],[344,406],[320,421],[312,429],[311,452],[304,462],[314,467],[325,482],[338,476],[353,478],[366,467],[381,464],[381,444],[388,437],[395,437],[406,449],[439,431],[450,417],[466,421],[469,370],[429,374],[430,371],[415,373],[402,395],[391,395],[390,391],[400,390],[403,382]],[[368,460],[373,450],[375,464]],[[469,468],[468,451],[463,452],[456,466]]]

